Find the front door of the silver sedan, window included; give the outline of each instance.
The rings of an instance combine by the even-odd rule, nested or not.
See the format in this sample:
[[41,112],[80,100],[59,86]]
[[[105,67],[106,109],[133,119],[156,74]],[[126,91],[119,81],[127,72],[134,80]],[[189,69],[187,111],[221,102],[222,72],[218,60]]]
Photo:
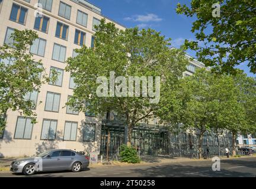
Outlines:
[[53,151],[43,158],[43,171],[58,170],[60,164],[61,151]]

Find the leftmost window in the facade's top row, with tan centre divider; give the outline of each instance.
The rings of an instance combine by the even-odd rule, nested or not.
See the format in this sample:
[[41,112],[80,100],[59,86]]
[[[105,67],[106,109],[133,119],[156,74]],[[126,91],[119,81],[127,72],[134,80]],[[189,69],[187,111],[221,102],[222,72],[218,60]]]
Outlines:
[[24,25],[25,19],[27,17],[27,11],[28,11],[27,8],[24,8],[23,6],[20,6],[20,5],[13,4],[11,15],[10,15],[11,21]]

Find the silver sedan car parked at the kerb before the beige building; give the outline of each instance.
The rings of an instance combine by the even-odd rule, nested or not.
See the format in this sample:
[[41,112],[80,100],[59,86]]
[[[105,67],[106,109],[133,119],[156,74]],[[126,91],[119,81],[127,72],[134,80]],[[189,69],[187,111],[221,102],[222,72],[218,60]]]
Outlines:
[[36,157],[16,159],[11,162],[10,171],[33,175],[42,171],[71,170],[79,172],[89,166],[89,158],[68,149],[45,151]]

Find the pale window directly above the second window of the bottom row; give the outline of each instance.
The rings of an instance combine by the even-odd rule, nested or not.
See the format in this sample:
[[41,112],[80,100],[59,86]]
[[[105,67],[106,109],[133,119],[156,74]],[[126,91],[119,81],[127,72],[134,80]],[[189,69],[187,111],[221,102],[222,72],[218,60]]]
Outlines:
[[50,112],[59,112],[60,94],[47,92],[46,105],[44,110]]

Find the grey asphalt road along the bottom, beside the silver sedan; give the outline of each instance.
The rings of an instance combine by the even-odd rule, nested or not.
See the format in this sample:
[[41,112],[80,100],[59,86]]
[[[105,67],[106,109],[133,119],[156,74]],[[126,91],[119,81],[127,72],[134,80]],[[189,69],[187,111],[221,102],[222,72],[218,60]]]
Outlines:
[[[211,160],[172,164],[106,166],[82,172],[43,172],[29,177],[256,177],[256,158],[225,159],[220,171],[212,170]],[[28,177],[0,173],[0,177]]]

